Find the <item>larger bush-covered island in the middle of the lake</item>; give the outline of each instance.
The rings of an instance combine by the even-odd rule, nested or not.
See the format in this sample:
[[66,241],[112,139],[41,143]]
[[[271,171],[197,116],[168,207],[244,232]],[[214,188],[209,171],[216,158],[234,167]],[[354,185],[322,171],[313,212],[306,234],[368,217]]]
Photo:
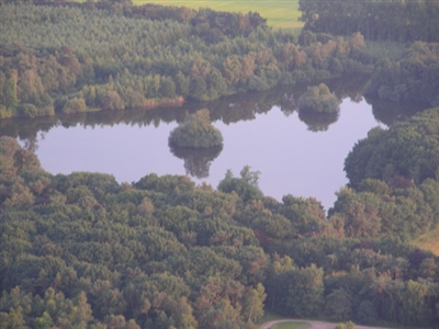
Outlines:
[[169,136],[172,147],[209,148],[223,145],[221,132],[211,124],[209,111],[200,110],[175,128]]

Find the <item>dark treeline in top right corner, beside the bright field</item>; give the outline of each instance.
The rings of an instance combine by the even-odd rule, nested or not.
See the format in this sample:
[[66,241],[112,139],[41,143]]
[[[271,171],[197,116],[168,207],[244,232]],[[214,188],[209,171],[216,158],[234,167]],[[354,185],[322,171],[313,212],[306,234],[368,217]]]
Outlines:
[[367,39],[439,42],[438,1],[300,0],[305,30]]

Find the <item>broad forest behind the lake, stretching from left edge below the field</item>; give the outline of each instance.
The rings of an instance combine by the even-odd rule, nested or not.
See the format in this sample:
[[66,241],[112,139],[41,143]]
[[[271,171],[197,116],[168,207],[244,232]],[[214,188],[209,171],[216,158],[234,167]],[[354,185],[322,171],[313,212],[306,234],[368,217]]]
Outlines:
[[1,117],[214,100],[370,64],[360,34],[299,43],[251,12],[54,3],[1,4]]

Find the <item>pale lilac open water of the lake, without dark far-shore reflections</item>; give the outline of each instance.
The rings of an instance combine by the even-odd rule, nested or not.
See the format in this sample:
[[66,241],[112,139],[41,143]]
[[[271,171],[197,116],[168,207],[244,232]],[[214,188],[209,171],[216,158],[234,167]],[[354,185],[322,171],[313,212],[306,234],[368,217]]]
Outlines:
[[[239,175],[249,164],[261,172],[259,186],[264,195],[278,200],[289,193],[313,196],[328,209],[336,200],[335,193],[347,183],[342,170],[346,156],[358,139],[379,125],[371,105],[350,99],[341,102],[338,121],[325,132],[309,131],[297,112],[285,115],[278,105],[256,113],[252,120],[228,124],[217,120],[213,124],[223,134],[224,147],[212,161],[176,157],[168,147],[168,137],[178,124],[164,121],[158,126],[57,125],[41,135],[36,155],[43,168],[54,174],[105,172],[114,174],[119,182],[134,182],[151,172],[199,173],[201,178],[191,177],[193,181],[205,181],[214,188],[227,169]],[[196,163],[202,169],[193,168]]]

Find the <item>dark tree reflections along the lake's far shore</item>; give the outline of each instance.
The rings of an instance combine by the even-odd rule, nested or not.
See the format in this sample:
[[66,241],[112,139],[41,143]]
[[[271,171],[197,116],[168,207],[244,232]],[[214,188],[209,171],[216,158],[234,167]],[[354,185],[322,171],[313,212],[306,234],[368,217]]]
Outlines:
[[[354,76],[344,79],[329,80],[325,83],[339,98],[349,97],[358,102],[362,99],[362,89],[368,81],[368,76]],[[40,132],[48,132],[52,128],[113,126],[115,124],[137,125],[139,127],[161,123],[182,122],[188,114],[206,107],[211,112],[212,122],[221,121],[225,124],[255,120],[257,114],[268,113],[273,106],[279,106],[289,116],[297,111],[295,100],[306,91],[306,86],[281,86],[266,92],[248,92],[240,95],[230,95],[212,102],[188,102],[179,107],[159,109],[132,109],[125,111],[88,112],[74,115],[56,115],[32,120],[12,118],[0,121],[1,135],[20,138],[31,148],[37,148]],[[312,131],[322,132],[338,117],[315,117],[301,115],[301,120]]]

